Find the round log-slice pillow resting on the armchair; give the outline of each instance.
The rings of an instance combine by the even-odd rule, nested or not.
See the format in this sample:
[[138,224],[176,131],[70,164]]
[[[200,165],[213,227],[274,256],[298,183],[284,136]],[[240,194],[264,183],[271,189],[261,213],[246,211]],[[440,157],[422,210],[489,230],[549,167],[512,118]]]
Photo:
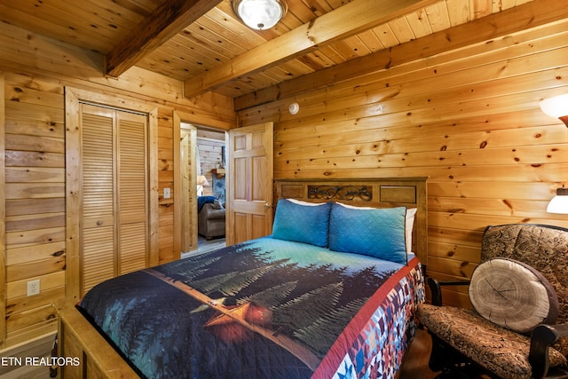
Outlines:
[[558,317],[556,291],[540,272],[509,258],[493,258],[471,275],[469,300],[486,320],[518,333]]

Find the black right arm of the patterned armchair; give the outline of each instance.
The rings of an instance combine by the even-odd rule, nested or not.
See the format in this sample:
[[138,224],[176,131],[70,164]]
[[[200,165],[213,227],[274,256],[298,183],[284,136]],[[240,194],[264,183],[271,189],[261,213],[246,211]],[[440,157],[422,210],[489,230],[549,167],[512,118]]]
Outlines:
[[568,324],[540,324],[534,328],[529,351],[529,363],[533,367],[534,378],[542,378],[548,374],[548,346],[565,336],[568,336]]

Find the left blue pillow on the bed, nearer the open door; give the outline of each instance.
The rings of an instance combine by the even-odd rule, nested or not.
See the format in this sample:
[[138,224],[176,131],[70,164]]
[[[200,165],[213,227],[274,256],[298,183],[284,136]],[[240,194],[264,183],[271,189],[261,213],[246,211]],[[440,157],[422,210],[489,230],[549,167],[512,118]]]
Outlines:
[[331,202],[302,205],[280,199],[272,225],[272,237],[327,247]]

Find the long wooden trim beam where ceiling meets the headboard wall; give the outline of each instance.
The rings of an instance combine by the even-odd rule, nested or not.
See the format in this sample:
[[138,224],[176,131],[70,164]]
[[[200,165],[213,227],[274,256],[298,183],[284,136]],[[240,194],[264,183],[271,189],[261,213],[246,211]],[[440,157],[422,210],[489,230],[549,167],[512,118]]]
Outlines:
[[[493,13],[482,19],[424,36],[420,40],[393,46],[390,50],[378,51],[375,54],[242,95],[234,99],[233,107],[235,111],[241,111],[278,99],[292,98],[306,91],[326,86],[328,83],[339,83],[361,75],[369,75],[416,59],[434,56],[469,44],[483,43],[526,28],[535,28],[549,22],[563,20],[566,17],[568,17],[568,8],[556,0],[525,3],[501,13]],[[491,28],[487,28],[487,25]]]

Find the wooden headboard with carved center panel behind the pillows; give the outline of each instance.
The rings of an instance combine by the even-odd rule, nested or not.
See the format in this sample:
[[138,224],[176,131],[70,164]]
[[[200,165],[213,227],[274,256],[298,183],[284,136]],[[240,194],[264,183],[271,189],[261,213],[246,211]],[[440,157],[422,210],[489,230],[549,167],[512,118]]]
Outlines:
[[274,199],[298,199],[322,202],[340,201],[359,207],[417,208],[414,218],[413,251],[428,264],[428,178],[361,178],[361,179],[277,179]]

